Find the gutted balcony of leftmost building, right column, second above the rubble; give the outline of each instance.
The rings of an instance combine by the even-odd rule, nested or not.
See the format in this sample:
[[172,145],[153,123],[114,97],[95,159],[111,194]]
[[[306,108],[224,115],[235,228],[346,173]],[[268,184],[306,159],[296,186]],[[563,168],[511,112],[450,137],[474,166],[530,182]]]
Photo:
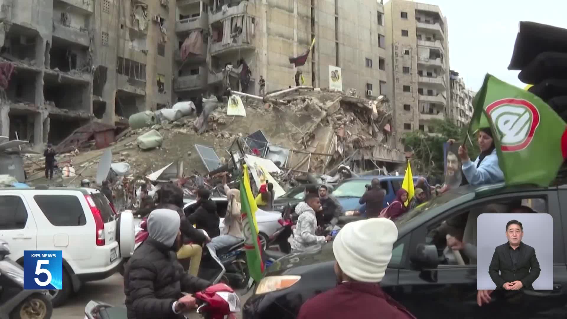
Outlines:
[[80,81],[62,73],[46,71],[43,95],[50,114],[83,119],[91,116],[90,81]]

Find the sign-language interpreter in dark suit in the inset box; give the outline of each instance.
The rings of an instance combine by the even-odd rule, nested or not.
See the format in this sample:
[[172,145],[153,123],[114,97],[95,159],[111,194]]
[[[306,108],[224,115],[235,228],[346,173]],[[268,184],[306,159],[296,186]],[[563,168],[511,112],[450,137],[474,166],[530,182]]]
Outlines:
[[508,242],[496,247],[488,268],[496,289],[534,289],[532,283],[539,277],[539,262],[534,247],[522,242],[523,236],[522,223],[511,220],[506,224]]

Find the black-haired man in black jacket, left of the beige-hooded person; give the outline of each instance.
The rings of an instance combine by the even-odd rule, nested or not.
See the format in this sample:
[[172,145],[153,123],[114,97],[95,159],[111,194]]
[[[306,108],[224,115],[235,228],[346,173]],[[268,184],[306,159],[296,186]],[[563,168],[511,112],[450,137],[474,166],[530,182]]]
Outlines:
[[198,208],[187,219],[197,229],[205,230],[210,238],[214,238],[221,234],[221,230],[218,228],[221,218],[217,214],[217,204],[210,200],[209,196],[209,190],[205,188],[197,190]]

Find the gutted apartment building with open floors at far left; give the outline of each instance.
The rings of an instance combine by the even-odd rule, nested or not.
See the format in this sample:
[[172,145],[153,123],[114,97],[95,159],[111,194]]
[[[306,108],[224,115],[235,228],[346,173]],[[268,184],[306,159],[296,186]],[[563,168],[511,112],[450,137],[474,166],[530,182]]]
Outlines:
[[167,0],[0,0],[2,136],[57,145],[171,104]]

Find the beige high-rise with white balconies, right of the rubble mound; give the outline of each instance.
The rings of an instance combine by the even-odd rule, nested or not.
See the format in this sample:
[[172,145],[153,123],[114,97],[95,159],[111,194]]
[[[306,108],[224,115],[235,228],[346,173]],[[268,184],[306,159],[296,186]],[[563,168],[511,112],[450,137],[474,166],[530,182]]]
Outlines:
[[450,114],[447,19],[425,3],[390,0],[384,7],[394,132],[433,133],[430,120]]

